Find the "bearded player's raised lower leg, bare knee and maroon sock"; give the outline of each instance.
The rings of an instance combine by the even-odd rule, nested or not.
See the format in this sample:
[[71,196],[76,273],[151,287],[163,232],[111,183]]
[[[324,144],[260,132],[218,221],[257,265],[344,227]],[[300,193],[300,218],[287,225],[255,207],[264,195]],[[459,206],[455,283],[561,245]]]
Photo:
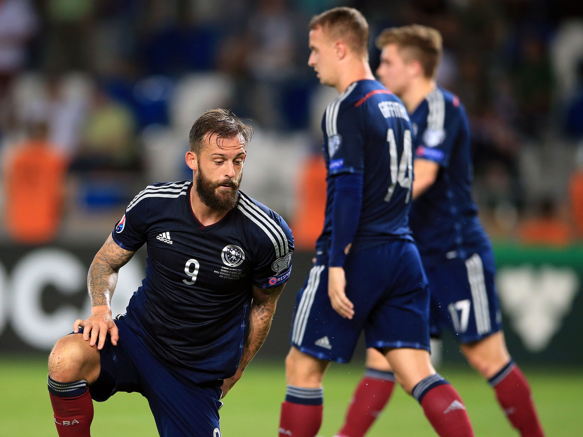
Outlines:
[[93,401],[89,383],[99,376],[99,351],[79,334],[57,341],[48,359],[48,392],[60,437],[89,437]]

